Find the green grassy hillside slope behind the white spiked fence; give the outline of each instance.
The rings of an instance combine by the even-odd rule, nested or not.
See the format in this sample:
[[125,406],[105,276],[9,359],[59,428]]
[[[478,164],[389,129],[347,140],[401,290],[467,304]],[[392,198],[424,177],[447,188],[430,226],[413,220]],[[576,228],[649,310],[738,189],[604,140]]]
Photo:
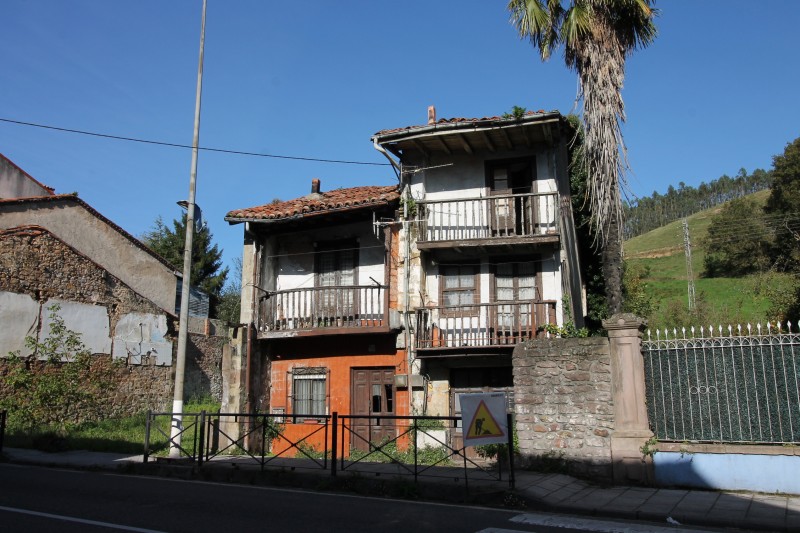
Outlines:
[[[769,191],[754,195],[760,205]],[[791,290],[791,276],[768,273],[745,278],[704,278],[703,258],[708,227],[720,207],[688,218],[692,243],[692,272],[697,308],[688,310],[688,275],[681,221],[625,242],[625,260],[632,268],[642,268],[646,293],[653,298],[654,310],[648,318],[651,329],[709,324],[765,322],[770,316],[772,295]]]

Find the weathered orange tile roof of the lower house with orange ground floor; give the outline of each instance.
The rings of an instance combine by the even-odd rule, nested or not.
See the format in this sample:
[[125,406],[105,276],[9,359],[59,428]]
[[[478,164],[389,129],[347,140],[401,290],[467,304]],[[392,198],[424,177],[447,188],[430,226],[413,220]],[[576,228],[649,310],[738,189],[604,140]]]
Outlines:
[[360,209],[371,205],[387,204],[400,198],[396,185],[350,187],[333,191],[312,193],[307,196],[245,209],[230,211],[225,220],[283,220],[302,216],[320,215],[333,211]]

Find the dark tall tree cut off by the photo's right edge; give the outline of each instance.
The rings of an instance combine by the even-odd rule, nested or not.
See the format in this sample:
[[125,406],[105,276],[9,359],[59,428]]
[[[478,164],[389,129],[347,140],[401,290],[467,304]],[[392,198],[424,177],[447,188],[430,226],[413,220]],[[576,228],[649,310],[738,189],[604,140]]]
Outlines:
[[772,158],[772,192],[764,206],[775,228],[773,259],[800,274],[800,138]]

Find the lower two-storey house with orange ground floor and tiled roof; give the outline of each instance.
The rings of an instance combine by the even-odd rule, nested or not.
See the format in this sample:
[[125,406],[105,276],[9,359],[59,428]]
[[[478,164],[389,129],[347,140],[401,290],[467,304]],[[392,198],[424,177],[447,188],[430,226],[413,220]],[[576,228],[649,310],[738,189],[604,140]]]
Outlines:
[[[244,223],[242,323],[252,324],[250,408],[285,414],[289,439],[322,415],[403,415],[408,374],[398,343],[392,287],[398,256],[399,190],[367,186],[321,191],[231,211]],[[297,427],[301,422],[303,428]],[[354,421],[350,445],[394,436],[394,424]],[[321,433],[304,444],[321,449]]]

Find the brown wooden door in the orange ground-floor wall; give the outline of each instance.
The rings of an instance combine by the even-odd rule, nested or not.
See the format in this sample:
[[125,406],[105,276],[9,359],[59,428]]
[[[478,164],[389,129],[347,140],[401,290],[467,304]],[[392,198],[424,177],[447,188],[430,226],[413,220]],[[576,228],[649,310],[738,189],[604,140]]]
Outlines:
[[395,438],[395,421],[381,416],[395,414],[394,368],[354,368],[351,378],[351,449],[367,451],[369,443]]

